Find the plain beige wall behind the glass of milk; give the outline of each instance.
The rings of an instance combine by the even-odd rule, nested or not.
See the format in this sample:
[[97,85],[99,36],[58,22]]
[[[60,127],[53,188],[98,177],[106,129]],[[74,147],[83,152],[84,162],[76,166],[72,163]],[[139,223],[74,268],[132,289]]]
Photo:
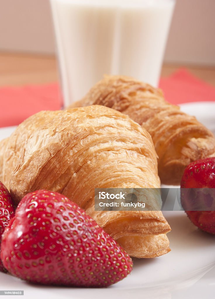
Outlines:
[[[177,0],[166,62],[215,65],[214,12],[215,0]],[[0,51],[4,50],[54,53],[48,0],[0,0]]]

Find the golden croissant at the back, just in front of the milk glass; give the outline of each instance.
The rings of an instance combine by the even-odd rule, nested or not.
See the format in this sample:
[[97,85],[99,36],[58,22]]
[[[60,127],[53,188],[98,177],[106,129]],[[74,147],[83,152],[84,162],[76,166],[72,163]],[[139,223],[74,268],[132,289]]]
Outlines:
[[215,137],[195,117],[168,103],[160,89],[124,76],[105,76],[70,107],[103,105],[144,127],[158,154],[158,175],[164,184],[180,184],[185,167],[215,155]]

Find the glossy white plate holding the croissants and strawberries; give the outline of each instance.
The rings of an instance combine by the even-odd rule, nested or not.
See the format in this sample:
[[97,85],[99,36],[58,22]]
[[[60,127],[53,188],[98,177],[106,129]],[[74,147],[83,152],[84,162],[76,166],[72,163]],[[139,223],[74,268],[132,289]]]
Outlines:
[[[182,110],[195,115],[215,129],[215,103],[188,103]],[[14,127],[1,128],[0,140]],[[214,130],[215,131],[215,130]],[[154,259],[134,260],[134,269],[121,282],[107,289],[80,289],[36,286],[0,273],[1,290],[24,290],[22,298],[152,298],[206,299],[215,294],[215,236],[199,231],[184,212],[164,212],[172,231],[168,234],[171,252]],[[5,298],[14,298],[9,295]]]

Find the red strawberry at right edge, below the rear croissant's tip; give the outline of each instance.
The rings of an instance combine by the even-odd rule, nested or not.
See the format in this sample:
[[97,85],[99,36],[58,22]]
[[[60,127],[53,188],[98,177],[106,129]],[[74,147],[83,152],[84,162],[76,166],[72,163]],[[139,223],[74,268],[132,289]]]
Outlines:
[[215,158],[188,165],[181,188],[182,207],[190,220],[203,231],[215,234]]

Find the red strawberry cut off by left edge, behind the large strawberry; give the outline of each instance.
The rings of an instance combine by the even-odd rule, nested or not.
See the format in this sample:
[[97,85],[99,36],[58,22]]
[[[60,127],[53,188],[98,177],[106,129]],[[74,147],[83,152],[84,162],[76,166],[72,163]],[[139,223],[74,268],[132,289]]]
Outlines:
[[[15,215],[13,201],[7,188],[0,182],[0,246],[1,236],[8,222]],[[0,271],[7,272],[0,260]]]

